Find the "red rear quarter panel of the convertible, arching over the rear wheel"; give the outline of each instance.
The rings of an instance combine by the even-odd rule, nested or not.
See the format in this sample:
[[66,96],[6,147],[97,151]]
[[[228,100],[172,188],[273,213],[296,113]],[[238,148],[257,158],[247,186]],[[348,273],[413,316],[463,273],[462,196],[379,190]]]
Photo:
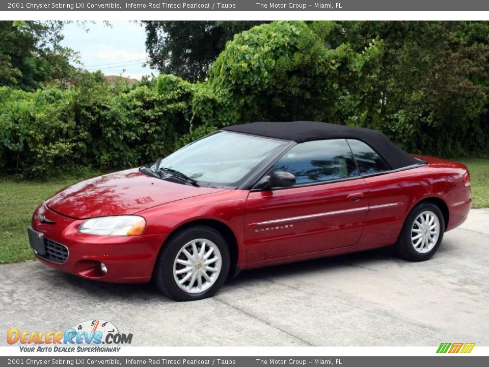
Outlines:
[[414,206],[427,198],[443,200],[449,211],[446,230],[460,225],[467,218],[471,194],[466,188],[464,165],[456,162],[419,156],[427,165],[366,177],[370,190],[370,207],[388,203],[397,206],[381,207],[367,214],[364,233],[359,247],[370,248],[393,244]]

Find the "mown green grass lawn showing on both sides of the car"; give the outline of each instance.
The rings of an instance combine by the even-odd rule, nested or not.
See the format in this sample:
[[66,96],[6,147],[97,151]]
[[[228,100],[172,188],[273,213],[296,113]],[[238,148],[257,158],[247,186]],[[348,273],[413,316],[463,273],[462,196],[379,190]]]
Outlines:
[[[461,162],[470,171],[473,207],[489,207],[489,159]],[[80,177],[49,182],[0,179],[0,264],[33,258],[26,231],[32,213],[45,198],[79,180]]]

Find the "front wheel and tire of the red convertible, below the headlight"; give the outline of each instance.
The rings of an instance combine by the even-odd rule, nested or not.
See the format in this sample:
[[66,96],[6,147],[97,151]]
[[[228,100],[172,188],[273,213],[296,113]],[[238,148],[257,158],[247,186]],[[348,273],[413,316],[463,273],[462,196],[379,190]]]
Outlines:
[[223,235],[207,226],[192,226],[163,245],[153,272],[156,287],[176,301],[213,296],[226,280],[229,248]]

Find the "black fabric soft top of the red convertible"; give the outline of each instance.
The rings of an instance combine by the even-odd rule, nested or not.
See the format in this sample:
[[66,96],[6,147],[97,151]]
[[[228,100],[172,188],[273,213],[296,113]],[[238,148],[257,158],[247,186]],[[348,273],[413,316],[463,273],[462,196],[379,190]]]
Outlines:
[[226,126],[222,130],[267,138],[291,140],[297,143],[320,139],[358,139],[370,145],[386,160],[392,169],[420,163],[419,160],[391,142],[384,134],[362,127],[336,125],[326,122],[291,121],[252,122],[242,125]]

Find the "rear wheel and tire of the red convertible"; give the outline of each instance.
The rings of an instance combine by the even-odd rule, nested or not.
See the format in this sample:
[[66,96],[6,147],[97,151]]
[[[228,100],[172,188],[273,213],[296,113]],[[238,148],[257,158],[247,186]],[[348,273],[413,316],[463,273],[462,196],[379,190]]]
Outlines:
[[432,203],[416,205],[408,215],[395,245],[400,257],[425,261],[440,247],[445,220],[440,208]]

